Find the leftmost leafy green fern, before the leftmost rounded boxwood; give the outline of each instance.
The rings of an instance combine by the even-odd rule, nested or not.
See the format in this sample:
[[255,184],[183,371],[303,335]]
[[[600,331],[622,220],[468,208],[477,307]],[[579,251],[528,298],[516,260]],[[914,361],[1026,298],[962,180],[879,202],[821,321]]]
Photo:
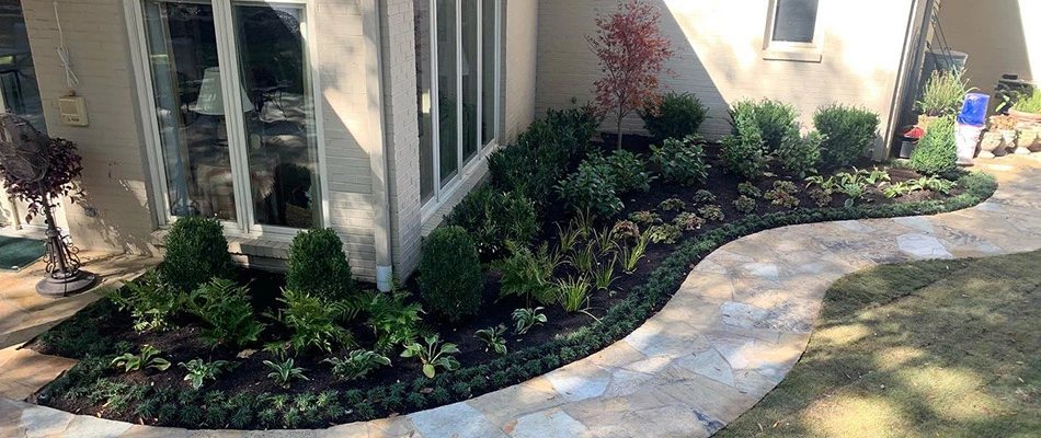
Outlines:
[[139,278],[119,289],[103,291],[121,311],[129,311],[137,332],[162,331],[172,326],[171,320],[181,310],[184,295],[167,287],[156,269],[148,269]]

